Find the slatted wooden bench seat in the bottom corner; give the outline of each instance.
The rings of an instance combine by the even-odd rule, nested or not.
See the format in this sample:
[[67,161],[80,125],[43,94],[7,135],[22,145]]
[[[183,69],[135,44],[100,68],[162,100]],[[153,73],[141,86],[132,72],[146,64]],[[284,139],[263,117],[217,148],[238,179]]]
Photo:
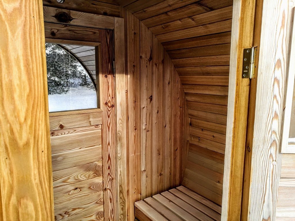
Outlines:
[[135,202],[135,217],[153,220],[221,220],[221,207],[195,192],[180,186]]

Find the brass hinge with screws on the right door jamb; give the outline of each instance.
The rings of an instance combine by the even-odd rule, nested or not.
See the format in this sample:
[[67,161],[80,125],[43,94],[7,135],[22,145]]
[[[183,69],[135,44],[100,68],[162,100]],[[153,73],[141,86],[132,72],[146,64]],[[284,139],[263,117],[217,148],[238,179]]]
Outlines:
[[258,47],[244,49],[242,78],[255,78],[257,51]]

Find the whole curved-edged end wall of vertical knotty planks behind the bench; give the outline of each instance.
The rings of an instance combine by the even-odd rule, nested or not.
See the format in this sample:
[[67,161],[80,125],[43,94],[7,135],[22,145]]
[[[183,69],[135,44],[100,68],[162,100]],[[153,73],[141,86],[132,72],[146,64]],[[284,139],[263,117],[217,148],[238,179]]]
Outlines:
[[161,43],[139,19],[125,13],[127,215],[134,220],[134,202],[181,183],[185,99],[179,76]]

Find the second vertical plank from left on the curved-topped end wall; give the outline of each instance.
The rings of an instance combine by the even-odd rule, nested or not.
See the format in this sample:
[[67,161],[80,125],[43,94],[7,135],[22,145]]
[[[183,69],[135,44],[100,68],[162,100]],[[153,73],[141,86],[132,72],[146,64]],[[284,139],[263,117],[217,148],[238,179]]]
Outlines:
[[142,199],[153,194],[153,34],[140,23]]

